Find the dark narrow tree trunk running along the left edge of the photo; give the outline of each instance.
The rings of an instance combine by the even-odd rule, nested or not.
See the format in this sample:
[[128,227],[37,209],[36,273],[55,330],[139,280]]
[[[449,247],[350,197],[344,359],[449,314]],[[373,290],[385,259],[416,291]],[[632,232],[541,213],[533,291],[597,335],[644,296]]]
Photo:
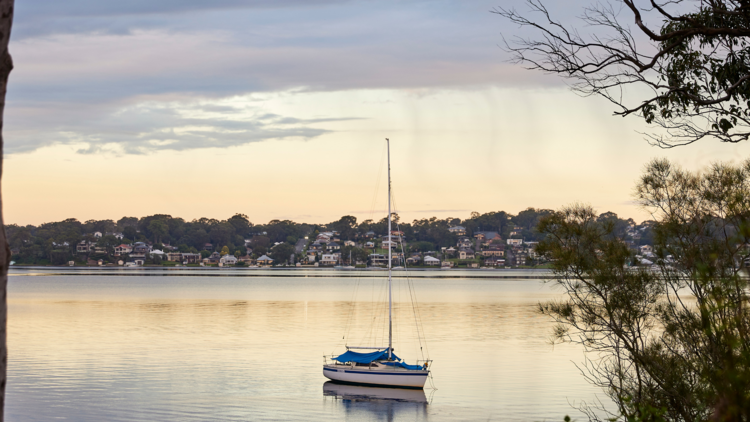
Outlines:
[[[10,29],[13,24],[14,0],[0,0],[0,179],[3,172],[3,114],[5,111],[5,93],[8,88],[8,75],[13,69],[13,60],[8,52]],[[8,267],[10,266],[10,246],[5,236],[3,221],[2,189],[0,188],[0,422],[5,420],[5,382],[8,368]]]

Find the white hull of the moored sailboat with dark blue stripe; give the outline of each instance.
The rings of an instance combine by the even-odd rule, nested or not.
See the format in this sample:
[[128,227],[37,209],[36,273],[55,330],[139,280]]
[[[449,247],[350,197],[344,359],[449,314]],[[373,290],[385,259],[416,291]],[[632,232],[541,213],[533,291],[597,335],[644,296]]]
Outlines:
[[323,375],[333,381],[353,384],[388,385],[406,388],[424,388],[430,371],[409,369],[369,369],[349,365],[324,365]]

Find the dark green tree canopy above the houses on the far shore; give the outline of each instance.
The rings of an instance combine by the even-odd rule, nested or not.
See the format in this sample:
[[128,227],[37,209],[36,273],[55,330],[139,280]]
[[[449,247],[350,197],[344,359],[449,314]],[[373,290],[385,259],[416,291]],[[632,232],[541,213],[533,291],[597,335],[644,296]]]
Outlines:
[[[479,231],[493,231],[500,234],[503,239],[515,237],[527,241],[539,240],[537,224],[542,217],[551,212],[534,208],[528,208],[515,215],[504,211],[485,214],[474,212],[468,219],[463,220],[432,217],[414,220],[411,223],[401,222],[395,214],[393,229],[402,231],[410,247],[418,251],[455,246],[459,234],[448,229],[459,225],[466,229],[466,235],[469,237]],[[632,219],[620,219],[614,213],[605,213],[601,217],[612,220],[623,235],[627,230],[637,226]],[[648,222],[644,224],[648,226]],[[267,253],[275,244],[291,246],[305,236],[326,230],[338,232],[341,240],[357,240],[368,232],[382,236],[387,231],[387,219],[358,222],[356,217],[347,215],[327,224],[296,223],[289,220],[253,224],[244,214],[235,214],[226,220],[200,218],[192,221],[166,214],[155,214],[141,218],[122,217],[117,221],[80,222],[75,218],[69,218],[39,226],[9,224],[6,230],[13,259],[17,263],[62,265],[70,260],[80,259],[76,254],[76,245],[81,241],[95,242],[107,251],[102,255],[112,255],[114,248],[123,243],[146,242],[157,248],[164,244],[171,245],[180,252],[193,253],[209,248],[209,252],[220,251],[226,247],[230,254],[239,252],[240,255],[244,255],[247,252],[246,246],[249,246],[254,255],[260,256]],[[97,232],[101,237],[95,236]],[[648,243],[649,236],[649,231],[646,231],[642,241]],[[249,240],[249,243],[246,240]],[[288,251],[288,247],[282,249]]]

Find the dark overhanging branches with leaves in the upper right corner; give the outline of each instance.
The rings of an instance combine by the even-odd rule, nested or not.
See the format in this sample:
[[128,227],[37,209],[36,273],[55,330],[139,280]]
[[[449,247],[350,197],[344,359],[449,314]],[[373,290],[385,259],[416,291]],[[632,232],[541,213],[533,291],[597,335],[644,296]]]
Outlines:
[[707,136],[750,137],[746,0],[597,3],[584,10],[580,29],[556,21],[539,0],[527,5],[528,14],[495,10],[539,34],[506,41],[514,59],[565,77],[583,95],[603,96],[616,115],[637,115],[666,130],[648,135],[652,142],[672,147]]

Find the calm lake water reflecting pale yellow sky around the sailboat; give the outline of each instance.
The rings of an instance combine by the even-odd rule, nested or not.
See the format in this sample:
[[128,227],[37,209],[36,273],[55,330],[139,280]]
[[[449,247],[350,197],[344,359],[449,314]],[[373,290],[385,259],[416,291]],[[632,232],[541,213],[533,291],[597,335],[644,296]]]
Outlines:
[[[601,391],[535,312],[558,295],[528,271],[410,272],[432,384],[326,384],[323,356],[387,344],[379,272],[14,269],[9,421],[561,421]],[[421,358],[406,278],[396,353]],[[502,276],[502,277],[499,277]],[[342,338],[347,336],[347,338]],[[356,344],[360,345],[360,344]],[[429,386],[428,382],[428,386]]]

